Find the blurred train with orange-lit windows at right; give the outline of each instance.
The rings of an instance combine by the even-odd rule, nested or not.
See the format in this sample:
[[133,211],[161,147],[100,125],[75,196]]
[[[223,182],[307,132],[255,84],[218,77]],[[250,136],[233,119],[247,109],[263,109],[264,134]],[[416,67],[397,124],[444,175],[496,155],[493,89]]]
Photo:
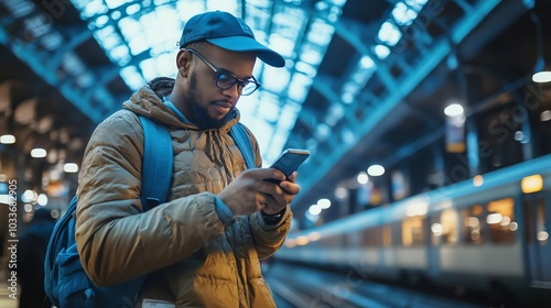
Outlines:
[[491,307],[551,307],[550,228],[548,154],[290,232],[273,258]]

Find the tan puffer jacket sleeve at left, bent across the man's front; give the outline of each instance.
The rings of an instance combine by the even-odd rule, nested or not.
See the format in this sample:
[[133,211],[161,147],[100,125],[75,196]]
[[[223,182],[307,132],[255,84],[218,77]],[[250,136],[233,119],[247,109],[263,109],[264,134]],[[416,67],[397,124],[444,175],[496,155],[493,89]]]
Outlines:
[[99,286],[119,284],[171,265],[224,232],[209,193],[142,212],[143,131],[119,111],[93,133],[77,191],[76,242],[83,267]]

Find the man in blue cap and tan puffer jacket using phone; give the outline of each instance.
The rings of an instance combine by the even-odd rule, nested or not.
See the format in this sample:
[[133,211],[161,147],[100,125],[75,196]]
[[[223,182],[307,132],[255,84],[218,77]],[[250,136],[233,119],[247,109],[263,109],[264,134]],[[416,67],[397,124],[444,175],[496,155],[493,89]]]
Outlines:
[[[276,67],[284,59],[258,43],[242,20],[219,11],[190,19],[180,47],[175,80],[158,78],[133,94],[88,143],[77,191],[83,266],[98,285],[148,275],[141,307],[156,300],[162,307],[274,307],[259,260],[289,231],[296,174],[285,179],[274,168],[246,170],[228,132],[239,121],[239,97],[259,87],[256,58]],[[169,201],[145,212],[137,114],[163,123],[174,147]]]

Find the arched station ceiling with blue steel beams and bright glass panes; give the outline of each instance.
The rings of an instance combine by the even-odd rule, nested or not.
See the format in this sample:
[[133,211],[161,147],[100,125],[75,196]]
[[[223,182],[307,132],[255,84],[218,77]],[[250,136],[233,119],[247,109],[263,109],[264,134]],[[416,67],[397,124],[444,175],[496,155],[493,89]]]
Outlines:
[[22,156],[55,150],[29,166],[78,162],[133,90],[174,75],[185,21],[225,10],[287,59],[280,70],[258,63],[262,88],[238,108],[267,164],[287,147],[312,152],[300,168],[304,208],[442,136],[454,100],[477,112],[531,82],[538,58],[551,62],[549,2],[2,0],[0,134],[15,132]]

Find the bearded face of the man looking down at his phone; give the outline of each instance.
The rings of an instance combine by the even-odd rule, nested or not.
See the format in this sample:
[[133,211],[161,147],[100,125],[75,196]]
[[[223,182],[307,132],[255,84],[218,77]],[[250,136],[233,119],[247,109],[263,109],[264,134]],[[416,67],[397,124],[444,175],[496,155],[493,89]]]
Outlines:
[[[241,80],[252,75],[256,61],[252,53],[228,52],[216,46],[196,52],[219,72]],[[201,129],[220,128],[230,119],[240,97],[238,85],[220,89],[216,86],[217,73],[197,55],[187,53],[191,65],[184,92],[184,116]]]

